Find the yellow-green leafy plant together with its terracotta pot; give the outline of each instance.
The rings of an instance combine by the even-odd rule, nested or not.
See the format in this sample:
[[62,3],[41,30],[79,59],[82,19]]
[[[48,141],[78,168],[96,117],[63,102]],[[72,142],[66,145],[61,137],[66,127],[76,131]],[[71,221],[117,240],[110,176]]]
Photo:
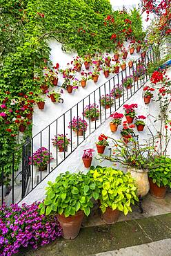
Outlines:
[[136,185],[129,173],[124,174],[112,167],[101,166],[91,167],[89,172],[100,190],[101,218],[105,223],[117,222],[119,212],[125,215],[132,212],[131,204],[139,199]]

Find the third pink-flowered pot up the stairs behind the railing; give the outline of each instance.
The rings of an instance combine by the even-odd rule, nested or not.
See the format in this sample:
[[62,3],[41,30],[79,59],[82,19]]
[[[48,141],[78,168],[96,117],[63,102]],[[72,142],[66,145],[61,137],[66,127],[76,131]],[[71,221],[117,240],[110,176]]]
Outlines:
[[86,133],[88,127],[88,123],[86,120],[83,120],[79,116],[72,119],[72,122],[69,123],[68,128],[72,129],[77,136],[83,136]]

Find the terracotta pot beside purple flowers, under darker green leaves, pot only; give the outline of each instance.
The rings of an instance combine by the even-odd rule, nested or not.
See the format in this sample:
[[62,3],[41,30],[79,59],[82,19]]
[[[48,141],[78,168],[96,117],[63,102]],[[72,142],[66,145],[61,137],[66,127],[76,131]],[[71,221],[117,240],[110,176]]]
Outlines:
[[63,238],[74,239],[79,235],[79,230],[84,217],[83,211],[79,211],[74,216],[69,217],[65,217],[63,214],[57,214],[57,217],[62,228]]

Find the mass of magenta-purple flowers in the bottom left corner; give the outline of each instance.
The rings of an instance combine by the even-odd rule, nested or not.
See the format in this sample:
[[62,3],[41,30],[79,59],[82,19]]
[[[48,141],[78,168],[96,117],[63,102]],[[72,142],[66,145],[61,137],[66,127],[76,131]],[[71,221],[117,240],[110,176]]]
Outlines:
[[36,249],[57,237],[61,237],[57,215],[40,215],[39,203],[1,206],[0,255],[11,256],[28,246]]

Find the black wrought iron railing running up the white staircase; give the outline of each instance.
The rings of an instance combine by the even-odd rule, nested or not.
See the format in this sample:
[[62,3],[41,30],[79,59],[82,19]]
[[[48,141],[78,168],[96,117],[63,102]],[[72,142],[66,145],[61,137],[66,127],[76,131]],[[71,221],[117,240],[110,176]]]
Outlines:
[[[68,109],[66,112],[61,114],[57,119],[52,121],[49,125],[47,125],[45,128],[43,128],[39,133],[34,135],[32,138],[28,138],[26,143],[22,145],[19,149],[22,149],[22,161],[21,166],[18,168],[18,173],[14,172],[16,170],[15,165],[15,154],[16,152],[12,153],[12,176],[11,179],[11,190],[8,195],[6,195],[5,190],[5,179],[6,177],[3,174],[3,168],[2,168],[2,174],[1,174],[1,203],[3,201],[6,201],[6,203],[14,203],[17,201],[21,201],[28,193],[30,193],[34,188],[41,183],[48,174],[50,174],[54,169],[56,169],[63,161],[74,152],[75,149],[83,141],[92,134],[92,132],[97,129],[105,120],[110,116],[112,111],[116,111],[119,109],[127,100],[129,100],[134,93],[136,93],[141,87],[148,81],[149,75],[147,73],[147,67],[148,63],[154,62],[155,55],[152,50],[148,51],[145,55],[145,57],[139,57],[133,65],[132,68],[130,66],[127,66],[125,71],[120,71],[113,77],[111,77],[108,81],[106,81],[104,84],[99,86],[97,89],[92,91],[89,95],[87,95],[85,98],[77,102],[77,104],[74,104],[70,109]],[[139,71],[140,65],[143,66],[143,70]],[[141,74],[141,79],[139,80],[139,73],[134,73],[134,71],[139,71]],[[130,80],[130,76],[133,75],[131,88],[125,89],[123,85],[121,86],[122,91],[122,97],[117,98],[116,95],[112,95],[111,91],[112,89],[117,88],[117,84],[119,84],[120,80]],[[131,81],[131,80],[130,80]],[[101,96],[104,95],[104,106],[101,104]],[[109,98],[110,102],[113,101],[113,104],[110,104],[110,107],[106,108],[107,98]],[[77,118],[77,126],[78,126],[78,118],[80,115],[83,115],[83,130],[86,128],[84,121],[86,121],[86,117],[84,116],[84,109],[86,105],[88,104],[99,104],[99,120],[95,117],[94,122],[92,122],[89,118],[88,122],[88,130],[86,132],[83,132],[83,136],[79,136],[79,129],[77,127],[77,131],[74,135],[74,131],[72,131],[72,125],[70,126],[70,129],[68,129],[68,123],[72,122],[72,118],[76,116]],[[95,109],[95,108],[94,108]],[[50,161],[50,151],[52,151],[52,144],[50,144],[50,139],[52,136],[57,136],[59,133],[62,133],[64,136],[67,134],[70,134],[70,149],[66,152],[66,145],[64,140],[64,152],[59,152],[58,147],[54,150],[54,161]],[[33,153],[40,148],[41,150],[41,158],[40,163],[43,163],[42,159],[42,147],[46,147],[48,149],[48,168],[47,171],[43,170],[35,170],[34,167],[34,158]],[[18,150],[19,150],[18,149]],[[19,173],[21,173],[21,186],[15,185],[16,179],[19,179]],[[16,175],[16,176],[15,176]]]

